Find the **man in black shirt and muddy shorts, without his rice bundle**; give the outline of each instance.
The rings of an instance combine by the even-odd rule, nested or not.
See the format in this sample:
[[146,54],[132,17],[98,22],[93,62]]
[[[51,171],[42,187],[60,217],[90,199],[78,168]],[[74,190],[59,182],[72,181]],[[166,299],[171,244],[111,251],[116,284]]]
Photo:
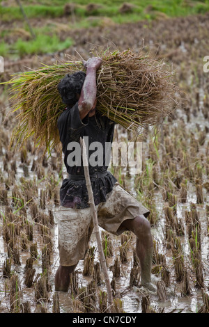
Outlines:
[[[89,58],[84,61],[84,67],[86,73],[78,71],[66,74],[58,84],[66,108],[59,115],[57,127],[68,172],[68,178],[61,185],[61,207],[57,213],[60,265],[55,275],[55,290],[62,292],[68,291],[70,273],[75,270],[79,260],[84,259],[93,232],[84,167],[82,160],[73,161],[72,158],[77,151],[81,151],[80,138],[88,139],[88,159],[95,149],[95,143],[102,147],[105,143],[111,144],[116,125],[114,120],[97,110],[96,73],[102,67],[102,59]],[[149,210],[118,184],[107,170],[107,152],[101,153],[99,160],[102,164],[94,165],[90,160],[88,163],[98,223],[111,234],[120,235],[129,230],[136,235],[141,286],[155,291],[155,285],[151,282],[153,238],[148,221]]]

